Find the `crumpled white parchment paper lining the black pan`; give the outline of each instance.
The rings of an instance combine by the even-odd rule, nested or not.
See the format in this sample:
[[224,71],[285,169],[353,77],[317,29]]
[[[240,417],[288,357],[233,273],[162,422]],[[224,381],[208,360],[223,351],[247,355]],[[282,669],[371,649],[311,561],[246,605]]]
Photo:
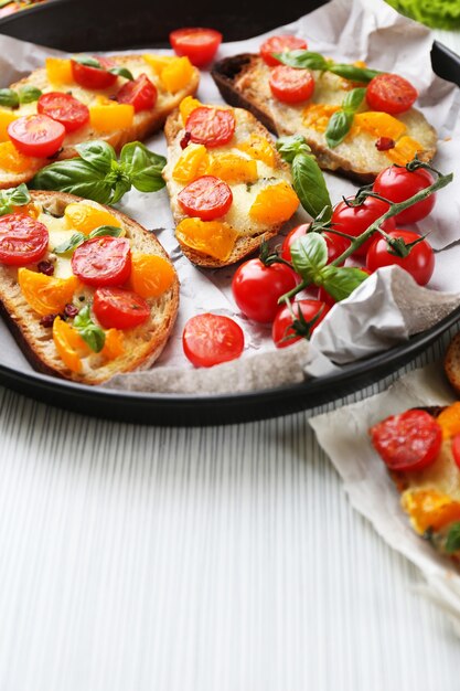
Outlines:
[[[418,107],[439,132],[435,163],[440,170],[454,171],[457,178],[460,177],[460,89],[432,73],[429,56],[432,36],[428,29],[400,17],[383,0],[355,0],[353,3],[333,0],[276,32],[296,33],[308,41],[310,50],[333,59],[343,62],[364,60],[372,67],[397,72],[409,78],[419,91]],[[257,52],[264,38],[224,43],[217,57]],[[146,50],[149,47],[146,46]],[[154,46],[151,51],[158,52]],[[0,35],[0,86],[8,86],[43,65],[50,54],[58,52]],[[222,103],[206,71],[202,73],[197,96],[203,103]],[[162,132],[150,138],[147,145],[159,153],[167,152]],[[430,287],[440,293],[417,290],[409,277],[397,277],[400,274],[398,269],[379,273],[355,291],[352,299],[335,306],[317,330],[311,347],[300,349],[306,354],[303,369],[309,375],[334,371],[334,363],[343,364],[400,343],[411,334],[429,328],[458,306],[460,276],[457,269],[459,248],[456,243],[460,236],[460,194],[454,191],[454,188],[458,191],[457,178],[449,188],[438,193],[435,211],[419,224],[421,232],[430,233],[430,242],[439,251]],[[353,194],[356,189],[350,181],[332,174],[327,174],[327,182],[334,203],[342,195]],[[266,353],[272,353],[275,359],[279,357],[280,363],[287,355],[275,351],[269,326],[252,323],[238,312],[231,293],[234,268],[203,270],[182,256],[174,238],[174,224],[165,190],[156,194],[131,191],[124,198],[119,209],[148,230],[153,230],[170,253],[181,280],[181,307],[172,338],[156,368],[145,373],[141,381],[138,375],[128,374],[115,378],[108,385],[126,389],[142,386],[146,391],[175,392],[181,386],[184,392],[213,391],[213,382],[221,378],[220,391],[233,391],[236,379],[239,382],[246,379],[247,390],[272,386],[269,370],[266,379],[243,375],[246,368],[256,369],[257,359],[265,358]],[[306,220],[307,214],[298,212],[286,226],[285,234]],[[246,347],[242,360],[223,368],[216,378],[202,371],[194,372],[182,352],[181,334],[186,320],[203,311],[231,316],[245,332]],[[30,369],[2,322],[0,339],[0,362]],[[244,363],[247,358],[252,361],[249,364]],[[256,362],[253,362],[254,359]],[[160,368],[165,371],[159,374]],[[261,364],[258,369],[259,372],[266,371]],[[285,382],[277,380],[277,383],[291,383],[290,374],[287,374]],[[240,386],[244,384],[238,384],[238,391]]]

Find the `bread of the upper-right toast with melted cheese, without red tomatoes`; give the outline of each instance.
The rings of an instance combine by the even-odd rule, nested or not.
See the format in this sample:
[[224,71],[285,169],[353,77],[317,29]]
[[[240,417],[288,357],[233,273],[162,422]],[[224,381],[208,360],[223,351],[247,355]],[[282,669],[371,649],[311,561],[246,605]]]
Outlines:
[[[367,183],[393,162],[403,162],[406,150],[398,151],[398,147],[377,150],[375,145],[378,132],[367,131],[363,127],[352,127],[339,146],[329,148],[324,136],[329,117],[355,85],[330,72],[313,71],[312,74],[315,79],[313,96],[308,102],[291,105],[272,96],[269,87],[270,68],[258,55],[246,53],[227,57],[216,63],[212,71],[227,103],[247,108],[279,137],[303,135],[323,170]],[[360,108],[360,113],[368,110],[365,103]],[[396,145],[398,140],[402,145],[406,142],[409,150],[416,150],[420,159],[431,160],[436,153],[437,134],[425,116],[410,108],[394,118],[397,123],[392,123],[396,125],[397,137],[392,138],[396,139]],[[386,136],[386,130],[382,131],[382,136]],[[410,160],[414,157],[410,153],[408,158]]]

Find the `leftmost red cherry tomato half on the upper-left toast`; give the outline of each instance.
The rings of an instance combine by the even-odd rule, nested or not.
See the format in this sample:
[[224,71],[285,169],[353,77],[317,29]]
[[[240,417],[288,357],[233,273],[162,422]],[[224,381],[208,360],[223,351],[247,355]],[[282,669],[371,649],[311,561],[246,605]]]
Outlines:
[[26,115],[9,124],[8,135],[24,156],[49,158],[61,149],[65,127],[47,115]]

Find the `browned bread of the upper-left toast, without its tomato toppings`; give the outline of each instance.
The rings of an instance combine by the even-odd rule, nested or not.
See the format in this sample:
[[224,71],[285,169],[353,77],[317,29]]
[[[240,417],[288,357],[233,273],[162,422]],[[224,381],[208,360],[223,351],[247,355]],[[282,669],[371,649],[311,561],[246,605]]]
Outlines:
[[[162,82],[161,66],[157,70],[152,66],[142,55],[118,55],[110,56],[110,60],[117,67],[126,67],[132,73],[136,78],[141,74],[146,74],[149,79],[154,84],[158,97],[153,108],[149,110],[139,110],[135,113],[132,125],[122,129],[100,129],[97,130],[92,127],[90,123],[83,126],[74,132],[67,132],[62,150],[53,160],[62,160],[74,158],[77,156],[75,146],[83,141],[90,141],[93,139],[103,139],[110,143],[117,151],[121,147],[136,140],[146,139],[148,136],[158,131],[164,125],[168,115],[174,110],[174,108],[181,103],[181,100],[189,95],[193,95],[200,83],[200,72],[196,67],[190,65],[190,78],[186,84],[181,88],[176,88],[173,92],[168,91]],[[174,59],[172,59],[174,60]],[[179,59],[176,59],[179,60]],[[154,61],[153,61],[154,64]],[[165,63],[168,65],[168,63]],[[161,65],[161,60],[159,61]],[[114,86],[104,91],[83,88],[74,82],[66,84],[60,84],[56,86],[52,84],[49,78],[49,74],[45,68],[35,70],[29,76],[24,77],[20,82],[11,85],[13,89],[20,89],[24,86],[36,86],[43,93],[49,92],[65,92],[71,93],[75,98],[84,103],[89,108],[94,105],[105,103],[107,99],[114,99],[117,92],[121,88],[127,79],[118,77]],[[115,103],[115,102],[114,102]],[[3,109],[4,110],[4,109]],[[20,106],[18,109],[11,111],[14,116],[21,117],[25,115],[33,115],[36,113],[36,102]],[[0,160],[0,189],[15,187],[22,182],[28,182],[33,176],[47,166],[51,161],[49,159],[31,158],[29,167],[20,172],[13,170],[7,170],[2,168]]]

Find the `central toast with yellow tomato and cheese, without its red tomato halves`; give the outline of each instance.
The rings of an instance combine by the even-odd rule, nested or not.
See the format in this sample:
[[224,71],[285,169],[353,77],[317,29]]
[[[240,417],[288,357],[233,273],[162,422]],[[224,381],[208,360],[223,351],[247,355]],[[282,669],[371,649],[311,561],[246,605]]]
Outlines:
[[[210,147],[189,139],[189,117],[197,108],[232,114],[235,130],[226,145]],[[218,268],[238,262],[263,241],[277,235],[295,213],[299,200],[291,187],[289,167],[269,132],[248,110],[202,106],[196,99],[185,99],[169,116],[164,134],[168,163],[163,178],[176,223],[175,235],[183,254],[194,264]],[[195,163],[191,162],[195,157]],[[233,201],[223,216],[207,222],[185,213],[178,195],[189,183],[210,174],[228,184]]]

